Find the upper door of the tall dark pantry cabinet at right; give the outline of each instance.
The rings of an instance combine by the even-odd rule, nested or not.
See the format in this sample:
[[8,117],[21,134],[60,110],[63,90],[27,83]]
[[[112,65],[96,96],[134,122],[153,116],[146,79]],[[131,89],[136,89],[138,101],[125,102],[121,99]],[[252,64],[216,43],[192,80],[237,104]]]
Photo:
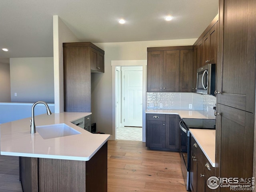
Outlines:
[[217,102],[254,113],[256,1],[221,0]]

